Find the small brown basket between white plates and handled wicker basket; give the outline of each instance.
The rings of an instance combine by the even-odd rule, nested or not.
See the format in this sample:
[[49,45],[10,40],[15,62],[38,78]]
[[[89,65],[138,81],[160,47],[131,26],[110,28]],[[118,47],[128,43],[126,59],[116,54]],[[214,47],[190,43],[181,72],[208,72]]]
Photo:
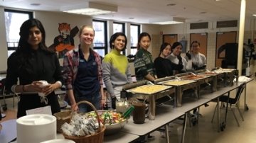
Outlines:
[[53,115],[57,118],[57,132],[62,133],[61,126],[65,122],[70,123],[71,110],[63,110],[63,111],[60,111],[59,113],[55,113]]

